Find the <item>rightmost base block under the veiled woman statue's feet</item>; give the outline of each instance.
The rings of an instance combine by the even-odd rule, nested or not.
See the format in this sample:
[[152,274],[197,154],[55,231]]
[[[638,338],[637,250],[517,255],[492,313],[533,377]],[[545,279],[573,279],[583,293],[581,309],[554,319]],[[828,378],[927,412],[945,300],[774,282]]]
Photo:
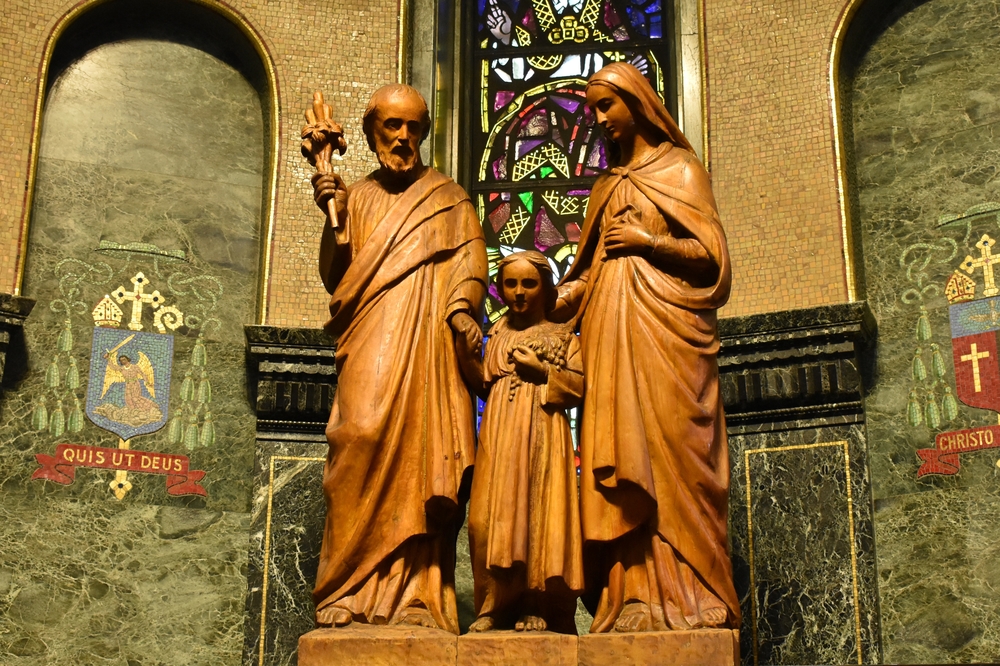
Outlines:
[[739,666],[740,632],[732,629],[649,631],[580,636],[580,666],[671,664]]

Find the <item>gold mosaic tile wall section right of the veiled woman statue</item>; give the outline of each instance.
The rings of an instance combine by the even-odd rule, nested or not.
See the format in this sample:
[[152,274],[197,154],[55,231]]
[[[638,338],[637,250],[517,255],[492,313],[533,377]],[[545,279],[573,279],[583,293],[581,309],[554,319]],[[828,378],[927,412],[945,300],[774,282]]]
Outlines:
[[723,316],[848,300],[830,53],[847,0],[704,0]]

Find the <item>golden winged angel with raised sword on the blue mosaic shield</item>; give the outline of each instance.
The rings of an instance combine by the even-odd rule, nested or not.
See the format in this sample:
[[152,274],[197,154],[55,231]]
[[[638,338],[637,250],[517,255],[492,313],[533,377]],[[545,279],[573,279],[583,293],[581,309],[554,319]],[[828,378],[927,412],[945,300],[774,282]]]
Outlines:
[[[156,382],[153,372],[153,364],[149,357],[139,352],[138,360],[134,363],[126,354],[118,354],[131,337],[126,338],[114,349],[104,353],[107,359],[107,366],[104,370],[104,387],[101,389],[101,399],[107,395],[108,390],[115,384],[125,384],[125,404],[117,405],[113,402],[106,402],[98,406],[94,411],[117,423],[137,428],[147,423],[154,423],[163,417],[160,406],[156,404]],[[149,393],[147,398],[143,395],[143,386]]]

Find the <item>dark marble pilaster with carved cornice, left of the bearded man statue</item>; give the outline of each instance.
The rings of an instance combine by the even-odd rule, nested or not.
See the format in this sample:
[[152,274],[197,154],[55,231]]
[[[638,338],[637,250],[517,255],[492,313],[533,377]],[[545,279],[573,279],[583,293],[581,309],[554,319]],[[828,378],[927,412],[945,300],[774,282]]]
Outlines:
[[288,664],[313,628],[334,348],[315,329],[248,326],[246,338],[257,447],[243,663]]

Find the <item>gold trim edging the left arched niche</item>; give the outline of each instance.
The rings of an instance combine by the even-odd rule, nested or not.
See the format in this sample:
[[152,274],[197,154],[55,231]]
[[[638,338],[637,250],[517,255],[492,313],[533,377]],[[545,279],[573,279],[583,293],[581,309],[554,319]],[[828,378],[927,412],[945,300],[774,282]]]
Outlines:
[[[26,192],[24,196],[24,209],[21,211],[20,239],[17,248],[17,265],[14,268],[14,295],[21,295],[21,288],[24,282],[24,264],[28,255],[28,232],[31,226],[31,208],[35,197],[35,177],[38,171],[38,148],[41,144],[42,136],[42,112],[45,108],[45,88],[48,83],[49,66],[52,63],[52,53],[55,51],[59,38],[62,37],[66,28],[76,19],[90,11],[94,7],[106,4],[112,0],[83,0],[74,5],[69,11],[62,15],[56,22],[55,27],[49,33],[42,51],[42,61],[38,68],[38,90],[35,95],[35,111],[31,128],[31,157],[28,164],[28,178]],[[192,2],[201,5],[215,12],[218,12],[240,32],[250,40],[254,50],[257,52],[264,71],[267,76],[268,102],[271,105],[270,113],[270,147],[271,159],[267,166],[266,176],[266,210],[267,217],[264,230],[264,242],[261,244],[260,281],[258,283],[257,313],[260,324],[267,321],[268,291],[271,272],[271,246],[274,239],[274,221],[277,209],[277,187],[278,187],[278,154],[281,147],[281,108],[278,98],[278,76],[274,67],[274,59],[271,57],[260,32],[238,11],[219,0],[177,0],[178,2]],[[403,0],[405,1],[405,0]]]

